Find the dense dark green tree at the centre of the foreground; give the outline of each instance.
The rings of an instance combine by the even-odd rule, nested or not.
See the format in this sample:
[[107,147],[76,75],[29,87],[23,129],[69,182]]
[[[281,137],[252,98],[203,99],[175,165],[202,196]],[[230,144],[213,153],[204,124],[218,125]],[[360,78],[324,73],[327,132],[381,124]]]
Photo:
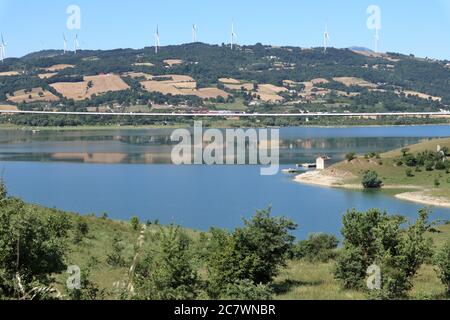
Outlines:
[[294,237],[290,231],[297,227],[289,219],[272,217],[271,209],[257,211],[245,227],[232,234],[212,230],[209,246],[208,271],[212,291],[217,294],[224,284],[251,280],[268,284],[286,265]]

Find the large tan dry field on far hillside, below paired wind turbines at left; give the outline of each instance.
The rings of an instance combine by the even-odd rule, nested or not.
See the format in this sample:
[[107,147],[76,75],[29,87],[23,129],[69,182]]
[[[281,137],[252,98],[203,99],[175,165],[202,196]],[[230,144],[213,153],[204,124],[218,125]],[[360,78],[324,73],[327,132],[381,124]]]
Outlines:
[[[88,84],[92,83],[89,88]],[[118,76],[114,74],[87,76],[83,82],[58,82],[52,86],[64,97],[74,100],[89,99],[92,95],[102,94],[109,91],[122,91],[129,89],[129,86]]]

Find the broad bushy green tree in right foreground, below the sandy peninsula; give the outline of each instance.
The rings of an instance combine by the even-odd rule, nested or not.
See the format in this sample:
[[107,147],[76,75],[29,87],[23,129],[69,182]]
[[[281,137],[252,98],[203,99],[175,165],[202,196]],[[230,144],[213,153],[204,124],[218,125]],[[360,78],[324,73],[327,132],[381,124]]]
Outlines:
[[382,271],[381,288],[372,295],[382,299],[404,298],[419,268],[431,256],[428,212],[422,210],[406,229],[406,219],[378,210],[351,211],[344,216],[344,248],[335,277],[345,288],[364,288],[368,267]]

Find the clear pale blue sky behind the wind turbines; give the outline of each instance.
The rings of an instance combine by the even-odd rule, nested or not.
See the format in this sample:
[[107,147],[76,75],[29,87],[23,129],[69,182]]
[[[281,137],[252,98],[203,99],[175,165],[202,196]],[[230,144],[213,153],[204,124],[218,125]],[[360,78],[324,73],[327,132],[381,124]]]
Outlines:
[[373,48],[372,4],[381,9],[381,51],[450,59],[450,0],[0,0],[0,32],[8,56],[61,49],[62,34],[75,34],[66,9],[78,5],[83,49],[153,45],[156,24],[163,46],[190,42],[193,23],[199,41],[229,42],[232,20],[240,44],[321,46],[328,23],[331,46]]

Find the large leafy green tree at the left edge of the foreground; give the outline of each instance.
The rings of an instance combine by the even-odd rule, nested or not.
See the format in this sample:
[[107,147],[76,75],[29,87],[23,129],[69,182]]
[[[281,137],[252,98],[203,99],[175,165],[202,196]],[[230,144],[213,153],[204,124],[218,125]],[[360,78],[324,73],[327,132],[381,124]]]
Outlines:
[[[19,298],[50,287],[52,274],[65,270],[66,232],[58,233],[54,226],[21,200],[1,199],[0,297]],[[34,295],[41,297],[39,291]]]

